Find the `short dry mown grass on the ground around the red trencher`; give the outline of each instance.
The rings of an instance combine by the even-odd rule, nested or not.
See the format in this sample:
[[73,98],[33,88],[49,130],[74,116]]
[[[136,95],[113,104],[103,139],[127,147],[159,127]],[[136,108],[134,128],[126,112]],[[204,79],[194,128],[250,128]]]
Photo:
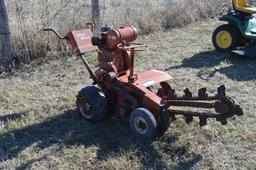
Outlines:
[[75,96],[90,84],[79,58],[37,60],[1,76],[0,169],[255,169],[256,61],[213,51],[216,26],[197,22],[140,37],[149,49],[136,70],[167,71],[180,92],[213,94],[225,84],[243,117],[204,128],[178,119],[161,139],[141,143],[117,120],[95,125],[77,114]]

